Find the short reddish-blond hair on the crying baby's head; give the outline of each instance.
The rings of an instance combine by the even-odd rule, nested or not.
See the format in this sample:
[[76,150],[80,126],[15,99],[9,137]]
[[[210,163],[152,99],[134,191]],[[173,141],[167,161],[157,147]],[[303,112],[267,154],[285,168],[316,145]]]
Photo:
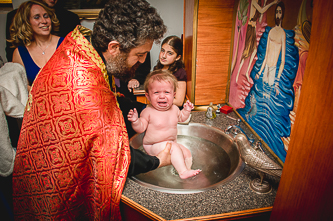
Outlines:
[[145,89],[145,92],[148,93],[148,87],[151,83],[154,81],[167,81],[170,82],[171,85],[173,85],[174,92],[177,90],[178,86],[178,80],[177,78],[168,70],[155,70],[153,72],[150,72],[145,80],[145,83],[143,84],[143,87]]

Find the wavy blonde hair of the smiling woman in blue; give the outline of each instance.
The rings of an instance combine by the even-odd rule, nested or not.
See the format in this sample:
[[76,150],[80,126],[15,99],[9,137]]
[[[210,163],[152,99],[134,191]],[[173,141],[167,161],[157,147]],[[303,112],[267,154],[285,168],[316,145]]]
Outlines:
[[8,39],[7,41],[11,42],[14,47],[17,47],[19,45],[29,46],[35,40],[34,33],[30,24],[30,11],[33,5],[40,5],[50,16],[52,23],[51,33],[59,30],[59,20],[53,9],[49,8],[41,0],[30,0],[27,2],[23,2],[17,9],[15,17],[9,29],[10,39]]

